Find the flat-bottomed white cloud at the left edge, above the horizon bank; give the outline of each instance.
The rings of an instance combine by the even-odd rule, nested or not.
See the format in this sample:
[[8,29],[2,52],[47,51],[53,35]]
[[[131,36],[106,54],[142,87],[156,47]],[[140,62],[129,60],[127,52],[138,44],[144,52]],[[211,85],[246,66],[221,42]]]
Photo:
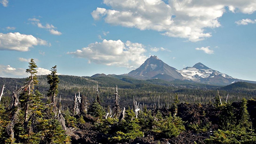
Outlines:
[[26,52],[33,46],[49,45],[45,40],[20,33],[0,33],[0,50]]

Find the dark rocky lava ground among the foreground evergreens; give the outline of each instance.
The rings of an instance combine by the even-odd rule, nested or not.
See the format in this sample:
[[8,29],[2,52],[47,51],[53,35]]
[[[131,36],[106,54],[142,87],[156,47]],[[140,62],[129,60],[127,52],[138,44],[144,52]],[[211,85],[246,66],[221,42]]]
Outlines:
[[[239,108],[240,103],[235,102],[232,104],[235,108]],[[256,101],[248,101],[248,111],[251,116],[251,121],[255,124],[256,121]],[[156,110],[157,111],[157,110]],[[160,109],[163,116],[169,115],[173,109]],[[178,105],[178,117],[185,121],[186,131],[179,136],[164,139],[157,138],[154,135],[147,135],[145,137],[136,138],[135,140],[125,142],[124,144],[204,144],[204,139],[210,137],[213,131],[218,129],[218,114],[220,110],[213,105],[201,104],[180,104]],[[95,131],[92,125],[92,119],[85,118],[86,124],[80,126],[80,129],[73,130],[75,135],[72,136],[72,144],[110,144],[108,142],[109,135],[102,134]],[[195,131],[191,125],[205,125],[210,123],[210,127],[206,131]]]

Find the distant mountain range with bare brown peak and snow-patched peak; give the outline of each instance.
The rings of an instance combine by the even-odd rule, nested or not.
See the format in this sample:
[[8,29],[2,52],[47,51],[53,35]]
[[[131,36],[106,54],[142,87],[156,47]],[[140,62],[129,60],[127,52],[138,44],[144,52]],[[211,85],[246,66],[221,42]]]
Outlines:
[[157,56],[151,56],[138,69],[135,69],[125,75],[135,79],[162,79],[166,81],[179,79],[210,85],[230,85],[234,82],[256,83],[253,81],[233,78],[230,75],[210,69],[200,62],[195,64],[193,67],[186,67],[184,69],[177,70],[164,63]]

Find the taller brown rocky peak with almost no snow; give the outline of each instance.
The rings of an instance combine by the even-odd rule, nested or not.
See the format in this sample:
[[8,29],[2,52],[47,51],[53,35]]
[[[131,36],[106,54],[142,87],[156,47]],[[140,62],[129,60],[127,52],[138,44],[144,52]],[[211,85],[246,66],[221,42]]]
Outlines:
[[183,79],[177,69],[167,65],[157,56],[148,58],[138,69],[129,72],[127,75],[136,79],[155,79],[156,75],[168,75],[168,79]]

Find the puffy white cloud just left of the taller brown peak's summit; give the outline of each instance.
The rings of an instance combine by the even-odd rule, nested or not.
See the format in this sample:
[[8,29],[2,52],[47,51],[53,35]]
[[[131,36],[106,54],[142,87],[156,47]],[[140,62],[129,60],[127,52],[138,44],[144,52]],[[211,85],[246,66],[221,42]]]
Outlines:
[[144,52],[146,49],[141,43],[131,43],[130,41],[123,43],[121,40],[104,39],[101,43],[91,43],[88,47],[68,52],[68,54],[89,59],[89,63],[135,69],[147,59]]

